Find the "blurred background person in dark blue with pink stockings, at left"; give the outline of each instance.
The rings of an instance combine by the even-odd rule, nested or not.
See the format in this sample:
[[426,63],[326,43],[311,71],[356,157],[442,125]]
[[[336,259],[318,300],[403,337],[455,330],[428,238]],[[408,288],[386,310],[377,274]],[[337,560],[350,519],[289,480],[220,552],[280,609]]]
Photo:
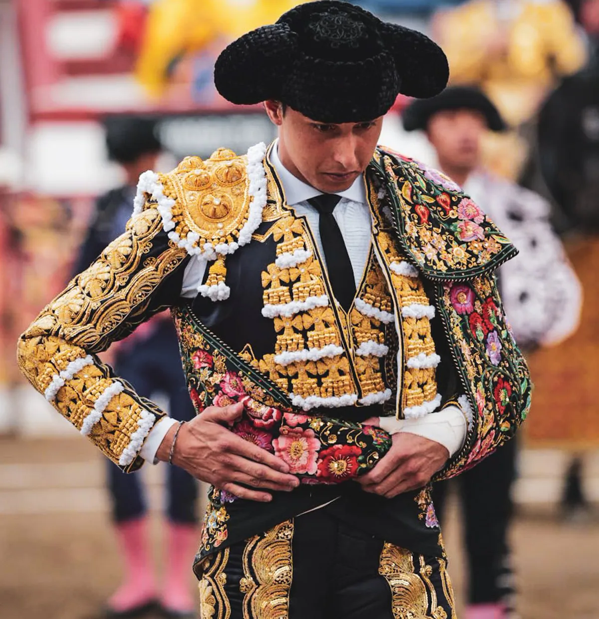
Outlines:
[[[161,144],[155,121],[135,116],[105,120],[108,156],[123,168],[125,183],[98,197],[95,217],[75,261],[74,273],[86,269],[112,240],[125,230],[131,217],[139,175],[156,168]],[[181,367],[175,326],[163,312],[139,326],[110,349],[115,370],[145,397],[160,391],[168,396],[168,409],[177,420],[195,415]],[[123,584],[108,600],[106,617],[133,617],[160,606],[164,617],[194,617],[189,587],[189,566],[197,547],[197,482],[179,467],[169,467],[168,524],[165,573],[157,586],[150,556],[149,521],[139,472],[123,473],[106,462],[112,516],[123,555]]]

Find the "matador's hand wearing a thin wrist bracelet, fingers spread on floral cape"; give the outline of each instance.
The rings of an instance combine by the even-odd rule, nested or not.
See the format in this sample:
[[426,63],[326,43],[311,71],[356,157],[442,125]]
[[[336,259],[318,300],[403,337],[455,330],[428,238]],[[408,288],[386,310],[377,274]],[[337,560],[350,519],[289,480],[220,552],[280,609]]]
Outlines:
[[[289,466],[282,459],[228,429],[242,412],[243,404],[210,406],[184,423],[177,436],[173,464],[202,482],[252,501],[270,501],[272,495],[239,484],[287,491],[298,487],[298,478],[288,474]],[[176,428],[170,428],[160,444],[158,460],[168,461]]]

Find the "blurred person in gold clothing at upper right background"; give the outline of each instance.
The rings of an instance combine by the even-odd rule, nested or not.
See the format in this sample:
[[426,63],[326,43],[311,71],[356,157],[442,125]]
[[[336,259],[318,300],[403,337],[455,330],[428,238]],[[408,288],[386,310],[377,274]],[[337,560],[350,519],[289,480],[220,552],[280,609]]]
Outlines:
[[488,166],[517,180],[530,155],[538,106],[585,61],[584,41],[562,0],[468,0],[434,17],[450,84],[477,85],[512,131],[489,136]]

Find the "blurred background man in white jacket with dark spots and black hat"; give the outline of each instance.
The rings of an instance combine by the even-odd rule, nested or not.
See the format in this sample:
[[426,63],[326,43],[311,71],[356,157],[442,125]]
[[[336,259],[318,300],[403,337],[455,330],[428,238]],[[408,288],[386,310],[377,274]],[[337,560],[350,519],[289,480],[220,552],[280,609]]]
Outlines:
[[[459,183],[474,202],[459,204],[458,217],[476,222],[478,204],[519,249],[499,268],[504,310],[523,350],[554,345],[575,331],[582,293],[579,281],[549,224],[549,205],[537,194],[499,178],[481,163],[481,141],[487,130],[506,125],[483,92],[450,87],[437,97],[410,104],[403,114],[407,131],[426,132],[441,170]],[[450,206],[447,196],[447,206]],[[480,214],[482,219],[482,214]],[[480,251],[485,251],[481,239]],[[485,307],[472,314],[470,328],[484,339],[492,328]],[[501,393],[498,394],[501,397]],[[514,586],[507,543],[512,516],[515,442],[506,444],[456,485],[462,504],[468,560],[466,619],[500,619],[515,612]],[[447,482],[434,487],[438,514],[444,512]]]

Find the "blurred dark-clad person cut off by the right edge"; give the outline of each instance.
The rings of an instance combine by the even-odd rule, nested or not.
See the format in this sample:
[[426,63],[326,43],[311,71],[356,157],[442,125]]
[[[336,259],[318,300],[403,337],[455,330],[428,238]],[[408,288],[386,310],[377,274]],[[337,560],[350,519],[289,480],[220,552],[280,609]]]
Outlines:
[[[599,0],[571,4],[587,35],[588,62],[562,80],[541,106],[538,157],[543,180],[558,206],[559,227],[586,236],[579,245],[592,288],[599,269]],[[562,514],[567,519],[588,517],[583,462],[579,454],[567,470],[562,495]]]

